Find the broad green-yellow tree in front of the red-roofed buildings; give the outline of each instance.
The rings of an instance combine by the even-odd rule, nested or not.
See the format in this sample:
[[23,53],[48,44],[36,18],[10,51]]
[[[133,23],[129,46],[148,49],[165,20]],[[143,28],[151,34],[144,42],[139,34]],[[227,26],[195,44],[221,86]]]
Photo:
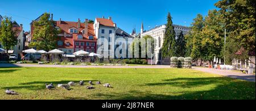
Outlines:
[[30,47],[49,51],[56,48],[56,39],[59,31],[54,27],[50,14],[44,13],[38,22],[34,22],[34,33]]

